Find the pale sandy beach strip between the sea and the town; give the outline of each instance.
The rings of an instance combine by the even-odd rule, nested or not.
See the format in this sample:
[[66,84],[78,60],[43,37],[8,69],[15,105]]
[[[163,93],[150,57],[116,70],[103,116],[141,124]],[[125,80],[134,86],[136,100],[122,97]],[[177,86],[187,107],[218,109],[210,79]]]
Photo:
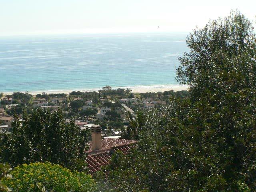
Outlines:
[[[130,88],[132,90],[132,93],[146,93],[146,92],[164,92],[164,91],[182,91],[182,90],[188,90],[187,85],[152,85],[152,86],[125,86],[125,87],[112,87],[112,89],[118,89],[118,88]],[[100,90],[101,88],[88,88],[88,89],[69,89],[69,90],[38,90],[38,91],[28,91],[29,94],[36,95],[36,94],[42,94],[42,92],[45,92],[47,94],[50,93],[66,93],[69,94],[72,91],[81,91],[81,92],[92,92]],[[15,92],[26,92],[26,91],[15,91]],[[13,92],[3,92],[4,95],[10,95],[13,94]]]

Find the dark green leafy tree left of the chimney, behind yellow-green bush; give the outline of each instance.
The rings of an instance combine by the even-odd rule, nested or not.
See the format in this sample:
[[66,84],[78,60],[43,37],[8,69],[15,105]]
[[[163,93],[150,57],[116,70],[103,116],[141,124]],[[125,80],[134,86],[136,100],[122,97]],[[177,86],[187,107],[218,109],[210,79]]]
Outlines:
[[[22,124],[21,124],[22,123]],[[14,115],[12,134],[0,140],[0,159],[18,166],[30,162],[60,164],[72,170],[85,171],[88,132],[74,120],[65,124],[62,111],[38,108],[31,116],[23,114],[22,122]]]

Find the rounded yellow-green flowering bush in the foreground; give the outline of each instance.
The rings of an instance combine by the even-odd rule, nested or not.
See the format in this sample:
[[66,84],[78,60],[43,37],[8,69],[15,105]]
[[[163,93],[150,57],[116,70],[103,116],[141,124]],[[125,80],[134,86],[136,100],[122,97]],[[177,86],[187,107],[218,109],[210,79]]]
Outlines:
[[49,162],[23,164],[15,167],[11,174],[12,178],[3,178],[2,182],[13,192],[39,192],[37,185],[55,192],[87,192],[94,186],[90,175]]

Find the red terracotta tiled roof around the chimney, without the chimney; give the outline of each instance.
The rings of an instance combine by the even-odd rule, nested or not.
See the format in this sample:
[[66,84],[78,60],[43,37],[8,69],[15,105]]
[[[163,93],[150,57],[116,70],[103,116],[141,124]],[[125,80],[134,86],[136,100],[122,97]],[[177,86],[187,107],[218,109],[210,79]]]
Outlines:
[[134,147],[136,142],[137,141],[134,140],[106,138],[102,139],[102,146],[104,147],[96,152],[91,151],[91,144],[89,144],[90,151],[86,152],[88,153],[86,163],[90,174],[100,170],[102,166],[108,165],[114,152],[120,151],[123,154],[128,154],[129,150]]

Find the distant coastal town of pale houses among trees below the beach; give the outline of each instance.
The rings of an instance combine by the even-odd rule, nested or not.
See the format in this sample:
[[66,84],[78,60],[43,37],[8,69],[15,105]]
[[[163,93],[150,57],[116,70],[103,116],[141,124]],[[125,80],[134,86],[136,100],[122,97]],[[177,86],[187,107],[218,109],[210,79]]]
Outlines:
[[174,92],[132,93],[130,89],[112,89],[105,86],[98,92],[72,91],[70,94],[36,94],[14,92],[12,95],[1,93],[0,133],[12,132],[11,122],[14,113],[22,120],[22,113],[28,115],[36,108],[48,108],[50,111],[61,109],[66,123],[71,118],[81,129],[93,125],[102,127],[102,138],[120,138],[127,130],[129,117],[136,117],[138,110],[160,108],[170,103],[170,97],[185,98],[185,90]]

